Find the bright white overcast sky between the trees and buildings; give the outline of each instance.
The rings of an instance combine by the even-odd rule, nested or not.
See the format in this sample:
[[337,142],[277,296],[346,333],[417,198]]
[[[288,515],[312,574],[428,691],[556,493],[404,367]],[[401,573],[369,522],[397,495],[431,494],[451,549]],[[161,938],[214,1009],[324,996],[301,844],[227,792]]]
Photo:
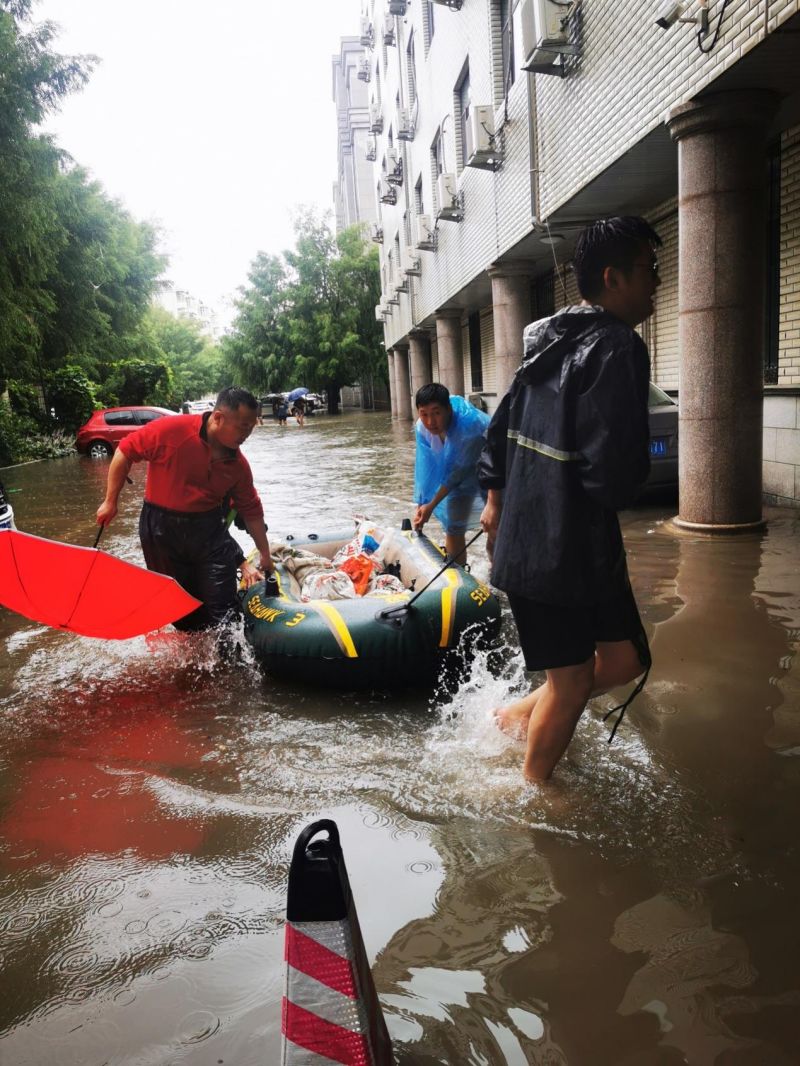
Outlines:
[[165,230],[179,287],[217,304],[295,204],[333,203],[331,58],[359,0],[41,0],[66,54],[102,60],[47,124],[138,219]]

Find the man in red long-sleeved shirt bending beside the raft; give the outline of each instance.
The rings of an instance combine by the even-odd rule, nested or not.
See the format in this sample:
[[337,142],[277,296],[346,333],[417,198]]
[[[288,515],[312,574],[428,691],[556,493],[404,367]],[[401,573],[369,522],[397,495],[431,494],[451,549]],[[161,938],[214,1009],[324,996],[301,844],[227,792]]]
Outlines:
[[[221,626],[238,612],[236,570],[241,558],[222,511],[233,499],[260,554],[268,585],[275,582],[263,508],[250,464],[240,452],[256,424],[258,402],[244,389],[228,388],[204,415],[160,418],[119,442],[109,469],[98,526],[117,513],[117,500],[134,463],[147,463],[147,486],[139,536],[148,570],[166,574],[203,601],[177,629]],[[246,576],[250,583],[262,574]],[[268,588],[269,592],[269,588]]]

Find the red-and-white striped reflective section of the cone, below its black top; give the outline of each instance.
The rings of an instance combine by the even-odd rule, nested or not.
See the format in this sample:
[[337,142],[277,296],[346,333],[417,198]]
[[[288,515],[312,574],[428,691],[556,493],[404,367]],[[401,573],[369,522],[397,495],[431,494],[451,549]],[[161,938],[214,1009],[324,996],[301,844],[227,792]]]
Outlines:
[[284,1066],[389,1066],[391,1045],[355,908],[343,921],[286,923]]

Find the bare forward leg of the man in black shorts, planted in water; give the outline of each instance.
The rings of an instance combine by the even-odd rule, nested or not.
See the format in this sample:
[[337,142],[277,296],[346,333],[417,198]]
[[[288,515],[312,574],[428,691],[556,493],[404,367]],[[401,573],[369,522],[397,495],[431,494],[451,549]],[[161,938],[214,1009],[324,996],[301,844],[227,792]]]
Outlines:
[[523,774],[528,781],[546,781],[566,750],[595,687],[594,656],[579,666],[547,671],[545,691],[528,722]]

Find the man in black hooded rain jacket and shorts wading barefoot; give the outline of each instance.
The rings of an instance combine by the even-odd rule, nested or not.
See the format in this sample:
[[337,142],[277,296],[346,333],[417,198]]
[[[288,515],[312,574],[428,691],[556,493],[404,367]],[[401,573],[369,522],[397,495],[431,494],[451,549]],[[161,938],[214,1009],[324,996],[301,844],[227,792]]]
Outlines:
[[660,244],[638,217],[580,235],[582,304],[526,328],[478,465],[492,581],[508,593],[527,668],[547,675],[497,712],[502,728],[527,733],[531,781],[550,776],[593,693],[650,664],[617,512],[650,470],[650,357],[635,327],[653,313]]

